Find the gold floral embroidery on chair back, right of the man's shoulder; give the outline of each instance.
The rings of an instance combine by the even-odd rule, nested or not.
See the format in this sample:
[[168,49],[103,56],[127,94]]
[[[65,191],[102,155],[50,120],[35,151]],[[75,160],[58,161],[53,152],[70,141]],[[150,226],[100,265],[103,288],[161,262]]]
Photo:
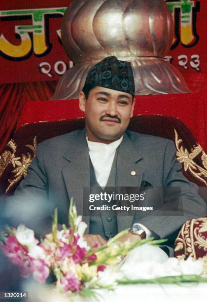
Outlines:
[[[174,132],[177,159],[180,163],[183,163],[185,171],[189,170],[191,174],[207,185],[207,181],[205,180],[205,178],[207,178],[207,154],[203,151],[199,144],[197,147],[194,146],[194,149],[192,149],[191,153],[189,153],[187,149],[183,148],[183,146],[180,146],[182,140],[178,139],[178,134],[175,129]],[[203,152],[202,161],[205,168],[202,168],[193,160],[201,152]]]

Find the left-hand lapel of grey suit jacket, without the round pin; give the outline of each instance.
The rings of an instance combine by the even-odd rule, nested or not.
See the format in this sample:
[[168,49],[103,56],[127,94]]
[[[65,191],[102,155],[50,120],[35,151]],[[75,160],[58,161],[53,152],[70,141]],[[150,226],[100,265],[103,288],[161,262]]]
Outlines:
[[[73,197],[77,213],[83,216],[83,188],[90,187],[89,153],[85,129],[79,132],[74,144],[63,157],[68,161],[66,161],[62,174],[69,198]],[[83,216],[83,221],[88,225],[87,232],[89,217]]]

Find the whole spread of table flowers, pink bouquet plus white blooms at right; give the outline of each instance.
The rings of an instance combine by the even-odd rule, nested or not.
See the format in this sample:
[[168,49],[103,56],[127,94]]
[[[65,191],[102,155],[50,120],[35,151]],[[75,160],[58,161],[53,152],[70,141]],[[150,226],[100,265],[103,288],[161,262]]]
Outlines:
[[[40,242],[35,238],[33,230],[20,225],[15,228],[7,227],[1,235],[0,249],[9,260],[20,268],[21,276],[29,278],[31,275],[40,283],[52,279],[55,291],[71,297],[75,294],[93,294],[93,289],[113,289],[118,284],[135,283],[180,283],[207,281],[202,277],[203,264],[192,260],[178,261],[169,259],[166,264],[155,265],[154,263],[140,263],[134,273],[134,264],[127,263],[122,266],[122,259],[134,248],[149,243],[157,245],[165,240],[153,240],[153,238],[138,240],[133,244],[128,241],[121,243],[118,239],[126,234],[126,229],[117,234],[106,245],[95,244],[89,247],[84,239],[87,225],[82,217],[77,215],[73,201],[69,207],[69,226],[63,225],[58,230],[58,213],[54,212],[52,232],[47,234]],[[182,262],[182,263],[181,263]],[[183,263],[186,263],[183,264]],[[185,267],[192,266],[187,271]],[[153,267],[157,267],[153,270]],[[168,272],[166,271],[168,267]],[[169,267],[172,270],[169,271]],[[196,268],[195,268],[196,267]],[[153,272],[153,278],[146,272]],[[160,273],[159,273],[160,272]],[[172,273],[173,272],[173,273]],[[185,275],[186,273],[186,275]],[[141,278],[144,275],[146,278]],[[172,275],[171,275],[172,274]]]

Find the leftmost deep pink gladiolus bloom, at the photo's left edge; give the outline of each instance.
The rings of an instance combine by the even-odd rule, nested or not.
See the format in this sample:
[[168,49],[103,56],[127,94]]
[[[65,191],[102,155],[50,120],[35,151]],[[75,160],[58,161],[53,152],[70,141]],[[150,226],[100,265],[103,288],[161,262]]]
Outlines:
[[9,260],[16,265],[24,266],[28,251],[16,239],[14,235],[9,235],[5,245],[1,246],[2,252],[9,258]]

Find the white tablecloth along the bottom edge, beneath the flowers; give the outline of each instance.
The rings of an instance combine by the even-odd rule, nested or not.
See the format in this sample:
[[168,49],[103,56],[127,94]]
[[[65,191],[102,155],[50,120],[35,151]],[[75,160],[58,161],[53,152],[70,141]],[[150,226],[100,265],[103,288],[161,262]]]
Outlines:
[[[75,299],[57,295],[42,284],[28,284],[28,302],[97,302],[96,299]],[[97,290],[100,302],[206,302],[207,283],[185,285],[136,284],[119,285],[115,291]]]

